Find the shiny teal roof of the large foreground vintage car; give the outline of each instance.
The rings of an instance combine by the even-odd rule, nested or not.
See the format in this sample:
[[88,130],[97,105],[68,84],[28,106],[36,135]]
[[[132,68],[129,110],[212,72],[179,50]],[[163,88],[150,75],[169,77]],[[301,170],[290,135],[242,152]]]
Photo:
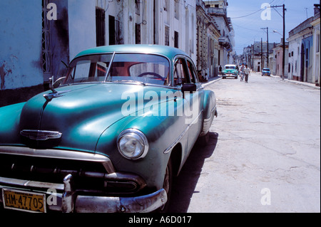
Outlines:
[[125,44],[125,45],[111,45],[111,46],[100,46],[96,48],[90,48],[86,51],[78,53],[75,58],[80,56],[102,54],[102,53],[154,53],[166,56],[170,59],[177,55],[188,56],[187,53],[181,51],[178,48],[161,45],[148,45],[148,44]]

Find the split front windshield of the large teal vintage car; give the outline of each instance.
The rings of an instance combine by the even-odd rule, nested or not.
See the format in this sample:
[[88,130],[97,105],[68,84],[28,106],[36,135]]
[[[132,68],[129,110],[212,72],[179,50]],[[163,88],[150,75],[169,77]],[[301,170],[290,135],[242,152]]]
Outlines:
[[113,53],[83,56],[73,60],[63,85],[75,83],[169,84],[169,62],[162,56]]

